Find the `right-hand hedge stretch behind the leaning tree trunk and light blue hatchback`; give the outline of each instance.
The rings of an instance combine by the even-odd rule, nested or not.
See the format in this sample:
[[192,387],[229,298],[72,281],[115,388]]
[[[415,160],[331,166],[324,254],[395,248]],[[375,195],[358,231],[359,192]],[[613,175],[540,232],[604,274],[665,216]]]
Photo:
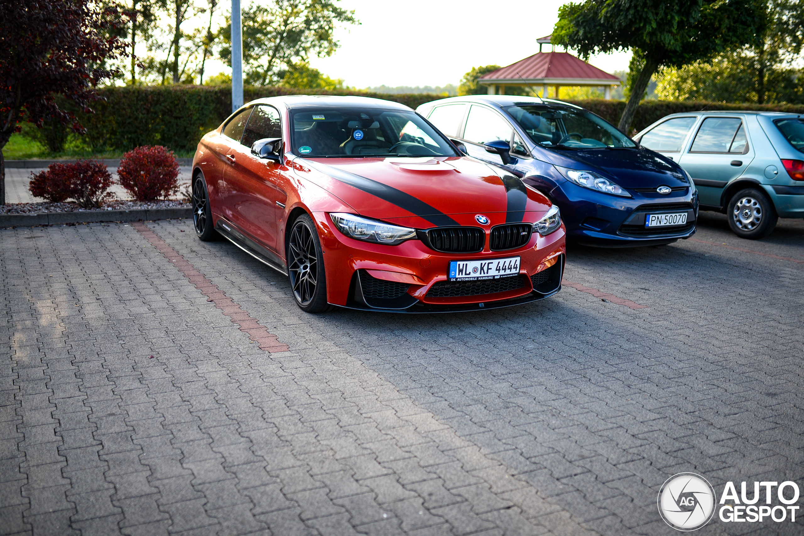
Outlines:
[[[569,101],[590,112],[597,113],[606,121],[617,125],[622,111],[626,108],[625,100],[572,100]],[[757,110],[762,112],[791,112],[804,113],[802,104],[724,104],[721,102],[671,101],[671,100],[643,100],[631,121],[631,128],[636,132],[653,124],[655,121],[671,113],[700,112],[704,110]]]

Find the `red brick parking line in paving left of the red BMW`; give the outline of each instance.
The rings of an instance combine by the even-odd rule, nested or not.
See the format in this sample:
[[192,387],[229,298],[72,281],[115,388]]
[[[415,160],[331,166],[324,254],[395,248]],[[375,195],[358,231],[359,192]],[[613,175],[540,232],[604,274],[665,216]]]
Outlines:
[[198,288],[208,298],[208,301],[213,302],[215,307],[229,317],[229,320],[240,326],[240,331],[248,333],[248,338],[256,342],[260,346],[260,350],[268,352],[286,352],[289,350],[287,345],[278,341],[276,335],[269,333],[264,325],[256,321],[256,318],[252,317],[247,311],[241,309],[239,304],[218,288],[218,285],[208,280],[181,253],[171,248],[170,244],[166,243],[154,231],[151,231],[145,223],[134,222],[132,227],[137,229],[146,240],[153,244],[154,248],[157,248],[167,260],[170,260],[192,284],[195,284],[195,288]]

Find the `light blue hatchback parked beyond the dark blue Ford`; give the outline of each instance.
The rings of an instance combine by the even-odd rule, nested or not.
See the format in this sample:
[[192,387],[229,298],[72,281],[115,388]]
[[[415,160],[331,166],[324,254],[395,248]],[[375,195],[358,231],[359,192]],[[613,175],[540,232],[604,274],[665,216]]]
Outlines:
[[804,118],[776,112],[674,113],[634,138],[691,175],[700,210],[757,239],[778,218],[804,218]]

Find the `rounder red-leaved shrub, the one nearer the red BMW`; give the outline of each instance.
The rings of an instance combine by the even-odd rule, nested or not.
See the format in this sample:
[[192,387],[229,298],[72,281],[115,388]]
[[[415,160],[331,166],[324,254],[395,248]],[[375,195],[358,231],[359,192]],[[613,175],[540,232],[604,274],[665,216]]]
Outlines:
[[167,198],[178,192],[178,161],[162,145],[143,145],[123,155],[117,182],[137,201]]

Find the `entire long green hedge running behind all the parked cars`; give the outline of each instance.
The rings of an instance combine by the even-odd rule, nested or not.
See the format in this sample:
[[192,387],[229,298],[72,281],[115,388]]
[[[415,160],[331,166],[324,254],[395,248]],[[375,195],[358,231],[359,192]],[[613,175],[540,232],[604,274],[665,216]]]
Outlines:
[[[204,133],[215,129],[232,111],[229,86],[146,86],[101,88],[104,100],[93,108],[96,113],[77,113],[87,129],[86,141],[95,152],[111,149],[125,151],[139,145],[165,145],[174,151],[192,152]],[[288,88],[244,89],[244,99],[314,93],[318,95],[359,95],[394,100],[411,108],[443,98],[429,94],[391,95],[369,92],[323,92]],[[621,100],[578,100],[574,104],[588,108],[617,124],[626,103]],[[670,113],[694,110],[749,109],[804,113],[804,106],[790,104],[719,104],[710,102],[665,102],[646,100],[639,105],[633,128],[644,129]]]

